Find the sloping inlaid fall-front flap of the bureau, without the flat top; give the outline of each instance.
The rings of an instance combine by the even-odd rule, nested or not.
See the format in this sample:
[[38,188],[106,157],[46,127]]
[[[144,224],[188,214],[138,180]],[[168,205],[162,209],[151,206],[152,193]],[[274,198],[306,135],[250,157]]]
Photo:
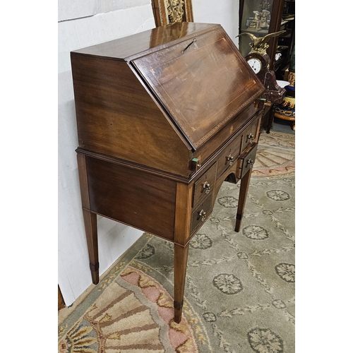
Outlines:
[[220,25],[132,64],[194,149],[264,90]]

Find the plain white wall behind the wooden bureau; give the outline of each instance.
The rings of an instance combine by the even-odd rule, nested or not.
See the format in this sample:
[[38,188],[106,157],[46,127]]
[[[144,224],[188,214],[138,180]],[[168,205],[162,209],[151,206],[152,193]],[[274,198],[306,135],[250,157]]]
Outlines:
[[[238,34],[238,1],[193,0],[195,22],[220,23],[234,42]],[[236,3],[236,4],[234,4]],[[59,0],[58,25],[58,283],[71,305],[92,283],[80,204],[78,147],[70,52],[155,27],[150,0]],[[142,232],[98,217],[100,274]]]

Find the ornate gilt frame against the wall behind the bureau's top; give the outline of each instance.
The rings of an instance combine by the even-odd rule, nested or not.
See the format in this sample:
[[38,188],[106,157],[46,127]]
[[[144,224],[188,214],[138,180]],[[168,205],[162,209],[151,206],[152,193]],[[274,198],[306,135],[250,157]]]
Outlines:
[[156,27],[175,22],[193,22],[191,0],[152,0]]

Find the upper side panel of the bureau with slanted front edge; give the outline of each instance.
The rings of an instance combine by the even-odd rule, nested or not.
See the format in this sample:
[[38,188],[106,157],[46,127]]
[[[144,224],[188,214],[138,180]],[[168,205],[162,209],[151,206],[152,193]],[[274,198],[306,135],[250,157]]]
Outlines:
[[125,61],[71,53],[80,147],[189,174],[186,144]]

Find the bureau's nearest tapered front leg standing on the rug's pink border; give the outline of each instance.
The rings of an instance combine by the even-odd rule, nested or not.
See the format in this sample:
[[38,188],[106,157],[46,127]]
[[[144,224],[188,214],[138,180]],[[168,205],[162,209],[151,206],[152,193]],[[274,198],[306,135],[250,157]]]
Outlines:
[[184,287],[189,244],[174,244],[174,321],[180,323],[184,304]]

